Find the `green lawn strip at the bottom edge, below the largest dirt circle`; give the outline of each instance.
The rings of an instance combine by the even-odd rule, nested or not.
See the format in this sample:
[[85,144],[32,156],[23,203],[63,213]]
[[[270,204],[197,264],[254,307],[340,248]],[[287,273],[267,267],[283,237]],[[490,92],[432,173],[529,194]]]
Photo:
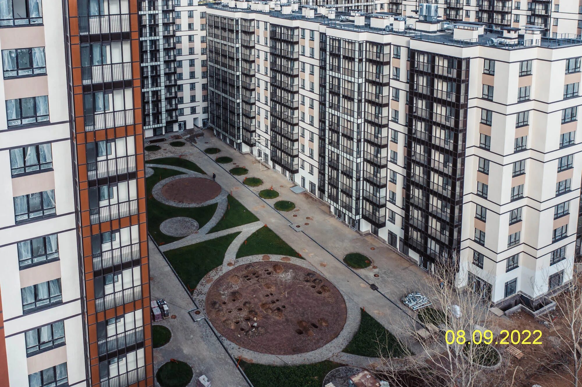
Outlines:
[[321,387],[325,375],[342,365],[325,360],[314,364],[282,367],[241,361],[240,366],[255,387]]

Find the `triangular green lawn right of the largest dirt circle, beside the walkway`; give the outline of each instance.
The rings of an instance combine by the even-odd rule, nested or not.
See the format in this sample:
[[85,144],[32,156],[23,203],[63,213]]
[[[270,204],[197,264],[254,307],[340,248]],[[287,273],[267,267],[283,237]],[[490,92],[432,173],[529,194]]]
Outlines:
[[370,357],[379,357],[379,354],[398,357],[406,354],[406,348],[374,317],[361,310],[360,328],[343,352]]

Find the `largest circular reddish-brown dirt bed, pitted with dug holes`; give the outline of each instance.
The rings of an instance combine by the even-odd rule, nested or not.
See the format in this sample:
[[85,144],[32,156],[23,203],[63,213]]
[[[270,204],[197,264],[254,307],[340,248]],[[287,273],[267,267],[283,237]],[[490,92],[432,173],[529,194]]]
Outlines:
[[310,352],[332,341],[346,323],[346,303],[327,279],[291,263],[261,261],[221,275],[205,309],[226,339],[261,353]]

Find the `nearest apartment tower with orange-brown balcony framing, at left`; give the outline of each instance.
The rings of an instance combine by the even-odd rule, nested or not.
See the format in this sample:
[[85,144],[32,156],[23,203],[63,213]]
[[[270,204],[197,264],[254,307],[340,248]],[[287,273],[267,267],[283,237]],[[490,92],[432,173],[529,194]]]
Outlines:
[[153,385],[137,2],[0,7],[0,385]]

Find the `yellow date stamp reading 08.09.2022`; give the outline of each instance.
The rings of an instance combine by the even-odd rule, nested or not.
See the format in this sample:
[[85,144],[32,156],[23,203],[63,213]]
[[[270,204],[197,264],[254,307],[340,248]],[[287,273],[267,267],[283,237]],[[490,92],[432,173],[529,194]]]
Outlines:
[[445,341],[448,345],[452,344],[459,344],[463,345],[464,343],[473,343],[475,345],[483,344],[505,344],[505,345],[517,345],[517,344],[541,344],[542,338],[542,331],[535,330],[530,331],[529,329],[525,329],[523,331],[518,331],[514,329],[513,331],[508,331],[507,329],[503,329],[499,332],[499,336],[495,338],[494,341],[494,334],[492,331],[480,331],[475,329],[473,331],[473,335],[470,338],[466,337],[466,332],[463,329],[459,331],[452,331],[449,329],[445,332]]

